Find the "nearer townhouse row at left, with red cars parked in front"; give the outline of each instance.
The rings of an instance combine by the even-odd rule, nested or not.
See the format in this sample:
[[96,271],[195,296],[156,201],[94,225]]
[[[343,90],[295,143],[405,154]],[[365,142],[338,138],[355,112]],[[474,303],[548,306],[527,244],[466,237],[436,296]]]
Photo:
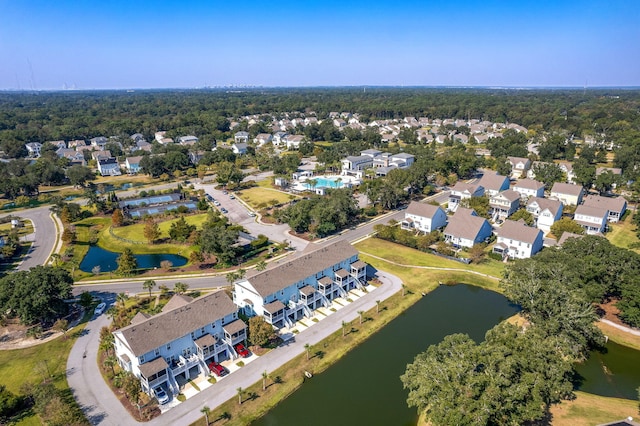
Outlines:
[[176,378],[208,374],[209,362],[237,357],[234,346],[246,340],[247,326],[229,296],[216,291],[196,299],[175,295],[159,314],[140,312],[113,336],[119,364],[143,391],[162,386],[177,394]]

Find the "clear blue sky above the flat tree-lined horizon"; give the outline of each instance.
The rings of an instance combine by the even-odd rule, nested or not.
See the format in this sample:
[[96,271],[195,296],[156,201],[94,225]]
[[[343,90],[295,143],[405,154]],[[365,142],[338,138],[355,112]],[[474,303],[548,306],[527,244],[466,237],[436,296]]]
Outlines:
[[0,0],[0,89],[640,86],[636,0]]

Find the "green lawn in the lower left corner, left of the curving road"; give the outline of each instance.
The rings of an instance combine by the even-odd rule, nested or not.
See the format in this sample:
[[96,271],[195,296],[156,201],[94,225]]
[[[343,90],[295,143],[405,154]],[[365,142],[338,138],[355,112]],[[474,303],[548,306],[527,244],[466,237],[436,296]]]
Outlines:
[[[50,376],[54,385],[63,391],[69,391],[66,370],[67,358],[71,347],[84,328],[85,322],[62,336],[41,345],[25,349],[0,351],[0,383],[15,394],[21,394],[20,387],[25,383],[39,383]],[[46,363],[44,362],[46,360]],[[42,422],[31,410],[23,413],[16,421],[17,426],[39,426]]]

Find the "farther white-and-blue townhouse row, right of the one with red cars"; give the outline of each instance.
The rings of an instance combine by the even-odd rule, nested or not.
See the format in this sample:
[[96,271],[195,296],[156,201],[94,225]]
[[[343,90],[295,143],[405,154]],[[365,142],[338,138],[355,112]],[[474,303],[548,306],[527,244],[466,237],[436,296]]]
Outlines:
[[363,288],[366,267],[348,241],[310,244],[299,257],[236,281],[233,301],[247,316],[262,316],[277,328],[291,327],[331,300]]

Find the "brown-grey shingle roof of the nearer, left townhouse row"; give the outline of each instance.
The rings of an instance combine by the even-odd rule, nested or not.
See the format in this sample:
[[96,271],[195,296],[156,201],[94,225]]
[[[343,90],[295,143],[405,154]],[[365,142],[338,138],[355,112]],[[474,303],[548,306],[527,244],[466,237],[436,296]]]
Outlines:
[[121,328],[116,333],[122,334],[135,356],[140,356],[237,310],[224,291],[217,291],[163,311],[144,322]]

